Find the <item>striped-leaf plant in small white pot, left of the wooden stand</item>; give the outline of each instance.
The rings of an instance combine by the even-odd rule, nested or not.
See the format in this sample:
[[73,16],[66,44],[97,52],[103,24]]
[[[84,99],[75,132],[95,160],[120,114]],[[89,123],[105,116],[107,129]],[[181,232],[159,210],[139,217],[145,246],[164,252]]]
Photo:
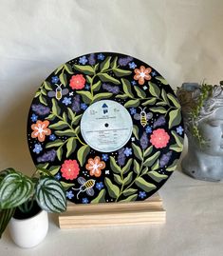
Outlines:
[[46,169],[37,168],[30,178],[13,168],[0,171],[0,238],[9,224],[15,244],[37,246],[46,236],[47,212],[65,208],[64,187]]

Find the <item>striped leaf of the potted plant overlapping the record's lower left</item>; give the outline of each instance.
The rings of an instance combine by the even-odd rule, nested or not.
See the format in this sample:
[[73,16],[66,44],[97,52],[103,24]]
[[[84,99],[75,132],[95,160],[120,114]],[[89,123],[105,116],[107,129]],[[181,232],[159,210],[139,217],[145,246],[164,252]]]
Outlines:
[[63,212],[66,208],[65,191],[60,182],[53,178],[41,178],[36,187],[38,205],[49,212]]

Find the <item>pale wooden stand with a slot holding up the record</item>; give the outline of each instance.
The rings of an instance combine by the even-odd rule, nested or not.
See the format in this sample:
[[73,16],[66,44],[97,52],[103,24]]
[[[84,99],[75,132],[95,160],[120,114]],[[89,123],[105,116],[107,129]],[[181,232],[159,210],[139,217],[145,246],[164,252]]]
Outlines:
[[158,193],[145,201],[75,205],[68,203],[59,216],[61,228],[163,224],[166,211]]

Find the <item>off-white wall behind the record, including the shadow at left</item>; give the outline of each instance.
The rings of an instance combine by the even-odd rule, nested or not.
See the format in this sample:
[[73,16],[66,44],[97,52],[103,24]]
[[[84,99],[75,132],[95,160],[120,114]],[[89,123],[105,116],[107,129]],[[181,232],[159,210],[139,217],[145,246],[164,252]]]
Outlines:
[[[150,64],[174,89],[223,78],[222,0],[0,0],[0,169],[31,172],[28,108],[57,66],[92,51]],[[222,79],[223,80],[223,79]]]

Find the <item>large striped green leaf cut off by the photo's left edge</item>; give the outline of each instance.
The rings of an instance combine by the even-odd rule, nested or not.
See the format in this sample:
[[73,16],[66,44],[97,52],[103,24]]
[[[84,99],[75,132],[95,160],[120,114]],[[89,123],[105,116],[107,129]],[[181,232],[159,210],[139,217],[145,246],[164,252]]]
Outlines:
[[0,209],[13,208],[28,201],[33,193],[33,183],[28,176],[9,173],[0,184]]

